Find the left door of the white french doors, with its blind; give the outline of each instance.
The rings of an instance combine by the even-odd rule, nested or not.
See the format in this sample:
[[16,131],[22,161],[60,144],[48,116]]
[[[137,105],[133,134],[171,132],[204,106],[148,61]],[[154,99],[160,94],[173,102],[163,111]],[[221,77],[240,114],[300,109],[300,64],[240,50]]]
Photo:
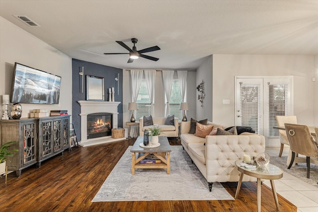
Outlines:
[[237,78],[236,125],[263,135],[263,79]]

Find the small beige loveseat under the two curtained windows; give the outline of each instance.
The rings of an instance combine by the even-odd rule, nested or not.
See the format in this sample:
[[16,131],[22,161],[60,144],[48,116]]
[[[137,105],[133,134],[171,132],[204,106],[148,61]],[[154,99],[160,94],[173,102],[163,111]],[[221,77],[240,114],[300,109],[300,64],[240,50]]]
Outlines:
[[166,136],[166,137],[179,137],[179,124],[178,118],[174,118],[174,125],[165,125],[166,118],[165,117],[153,117],[154,125],[144,126],[144,118],[140,118],[139,120],[139,135],[144,136],[144,131],[153,128],[155,125],[158,125],[161,134],[159,136]]

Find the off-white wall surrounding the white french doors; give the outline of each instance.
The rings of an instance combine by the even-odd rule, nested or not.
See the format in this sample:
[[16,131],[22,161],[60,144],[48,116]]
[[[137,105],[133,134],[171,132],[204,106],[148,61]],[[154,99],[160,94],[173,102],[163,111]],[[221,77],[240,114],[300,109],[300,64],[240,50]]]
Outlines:
[[[299,124],[313,126],[314,108],[317,111],[318,107],[314,102],[317,99],[317,81],[312,81],[314,67],[314,56],[213,55],[213,121],[235,125],[235,76],[292,75],[294,115]],[[230,99],[230,104],[222,104],[222,99]],[[266,139],[266,146],[279,146],[279,141]]]

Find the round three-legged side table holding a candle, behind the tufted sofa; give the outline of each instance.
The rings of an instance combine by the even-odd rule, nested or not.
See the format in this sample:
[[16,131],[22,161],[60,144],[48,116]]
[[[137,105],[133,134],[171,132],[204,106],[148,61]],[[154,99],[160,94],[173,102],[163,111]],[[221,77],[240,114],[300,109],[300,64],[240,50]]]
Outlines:
[[274,166],[272,164],[268,164],[265,168],[245,168],[244,166],[239,166],[239,164],[242,162],[242,160],[235,161],[235,165],[237,169],[239,170],[240,176],[239,176],[239,183],[237,192],[235,193],[235,199],[238,199],[239,196],[239,189],[242,184],[242,179],[244,174],[247,174],[251,177],[257,178],[257,212],[260,212],[260,202],[261,202],[261,179],[270,180],[270,184],[272,186],[272,191],[275,199],[276,209],[279,211],[279,205],[278,205],[278,199],[276,194],[276,189],[274,185],[274,180],[280,179],[283,177],[283,171],[278,168],[277,166]]

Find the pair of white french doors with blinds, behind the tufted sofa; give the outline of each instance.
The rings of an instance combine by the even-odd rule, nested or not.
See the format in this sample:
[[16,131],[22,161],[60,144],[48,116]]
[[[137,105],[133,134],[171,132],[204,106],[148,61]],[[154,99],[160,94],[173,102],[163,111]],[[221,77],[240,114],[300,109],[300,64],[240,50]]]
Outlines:
[[236,125],[256,134],[278,137],[277,115],[293,115],[293,77],[236,76]]

